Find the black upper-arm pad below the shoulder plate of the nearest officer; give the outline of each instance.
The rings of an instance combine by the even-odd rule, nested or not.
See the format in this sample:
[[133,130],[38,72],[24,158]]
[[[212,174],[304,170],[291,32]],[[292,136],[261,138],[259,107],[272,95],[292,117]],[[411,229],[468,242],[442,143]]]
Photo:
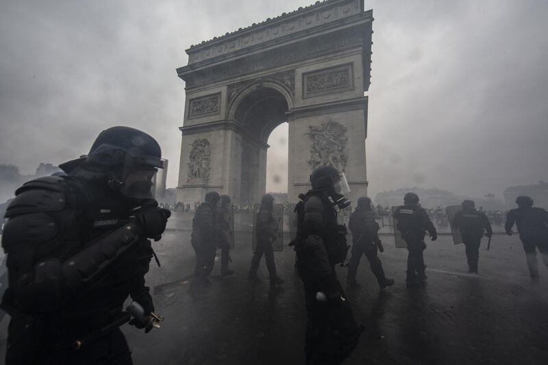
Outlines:
[[2,247],[6,252],[49,240],[58,232],[53,217],[46,213],[23,214],[5,223]]

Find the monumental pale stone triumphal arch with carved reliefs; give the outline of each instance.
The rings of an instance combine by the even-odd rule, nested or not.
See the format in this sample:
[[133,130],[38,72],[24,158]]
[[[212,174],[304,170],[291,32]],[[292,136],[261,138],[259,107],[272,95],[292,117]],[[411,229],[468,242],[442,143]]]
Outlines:
[[366,195],[372,22],[363,0],[317,1],[187,49],[177,69],[186,81],[177,200],[216,190],[260,201],[266,142],[281,123],[289,123],[289,201],[323,164],[345,171],[350,199]]

